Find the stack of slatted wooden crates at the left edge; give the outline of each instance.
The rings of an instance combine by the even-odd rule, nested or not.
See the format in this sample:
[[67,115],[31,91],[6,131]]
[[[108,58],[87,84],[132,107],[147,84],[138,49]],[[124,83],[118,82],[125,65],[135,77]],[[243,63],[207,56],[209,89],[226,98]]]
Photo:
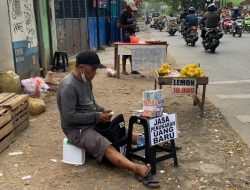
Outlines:
[[0,152],[29,126],[28,95],[0,94]]

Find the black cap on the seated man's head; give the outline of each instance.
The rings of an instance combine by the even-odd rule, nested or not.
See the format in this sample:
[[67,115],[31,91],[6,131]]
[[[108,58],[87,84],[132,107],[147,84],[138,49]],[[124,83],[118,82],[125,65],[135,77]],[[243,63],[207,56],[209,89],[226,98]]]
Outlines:
[[94,51],[84,51],[76,56],[76,63],[90,65],[96,69],[106,68],[101,64],[98,55]]

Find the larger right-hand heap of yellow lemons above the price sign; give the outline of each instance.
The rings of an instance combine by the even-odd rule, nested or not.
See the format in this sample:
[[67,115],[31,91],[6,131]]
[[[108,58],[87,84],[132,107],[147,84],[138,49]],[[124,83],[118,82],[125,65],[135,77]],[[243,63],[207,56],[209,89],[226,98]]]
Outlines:
[[178,77],[204,77],[204,71],[197,64],[189,64],[183,67]]

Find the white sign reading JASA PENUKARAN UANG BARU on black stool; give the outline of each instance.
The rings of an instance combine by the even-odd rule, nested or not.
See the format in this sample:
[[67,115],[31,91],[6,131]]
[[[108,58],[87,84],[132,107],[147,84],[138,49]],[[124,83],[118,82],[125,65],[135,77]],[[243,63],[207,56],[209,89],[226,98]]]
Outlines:
[[176,114],[163,114],[149,121],[150,144],[156,144],[177,138]]

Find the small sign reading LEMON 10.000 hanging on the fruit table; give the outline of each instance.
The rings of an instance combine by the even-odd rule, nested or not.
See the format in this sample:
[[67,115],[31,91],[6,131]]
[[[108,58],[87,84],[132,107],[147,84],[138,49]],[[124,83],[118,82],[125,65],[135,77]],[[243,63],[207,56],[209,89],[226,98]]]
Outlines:
[[175,95],[193,95],[196,93],[196,79],[173,78],[171,90]]

